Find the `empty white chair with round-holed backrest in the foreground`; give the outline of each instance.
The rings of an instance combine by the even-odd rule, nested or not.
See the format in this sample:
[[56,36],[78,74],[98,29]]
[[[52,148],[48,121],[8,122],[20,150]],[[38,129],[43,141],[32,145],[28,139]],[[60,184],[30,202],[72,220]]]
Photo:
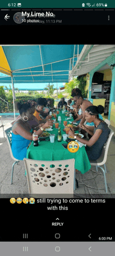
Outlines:
[[33,197],[73,197],[75,159],[39,161],[24,158],[29,194]]

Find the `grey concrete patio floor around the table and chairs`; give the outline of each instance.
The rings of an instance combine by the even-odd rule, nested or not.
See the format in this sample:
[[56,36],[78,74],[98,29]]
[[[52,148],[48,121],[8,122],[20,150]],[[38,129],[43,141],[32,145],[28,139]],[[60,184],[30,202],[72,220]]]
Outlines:
[[[3,125],[5,125],[4,130],[6,130],[8,127],[11,126],[10,123],[12,121],[13,120],[3,120]],[[115,135],[115,128],[112,126],[110,126],[110,128],[114,131],[114,135]],[[107,156],[107,162],[106,162],[106,168],[107,168],[106,179],[107,179],[108,193],[111,195],[112,198],[115,197],[115,174],[114,174],[115,136],[114,135],[110,142],[108,156]],[[0,128],[0,138],[1,138],[1,142],[2,142],[2,140],[4,141],[2,127]],[[24,194],[26,196],[28,194],[28,184],[27,184],[27,177],[25,177],[24,161],[19,161],[18,164],[15,164],[13,184],[10,185],[11,170],[12,170],[13,163],[14,163],[14,160],[10,157],[9,147],[8,147],[8,143],[6,140],[6,141],[0,143],[0,196],[1,197],[8,197],[8,194],[17,194],[17,195]],[[94,172],[96,173],[95,166],[92,166],[91,169],[93,169]],[[78,174],[76,173],[76,177],[79,177]],[[88,175],[90,175],[90,174],[88,173]],[[102,178],[102,181],[100,181],[99,179],[100,178],[98,175],[97,185],[99,182],[99,187],[101,186],[101,183],[102,183],[102,188],[105,187],[103,178]],[[79,188],[77,188],[75,190],[75,193],[76,193],[76,195],[78,195],[80,193],[81,196],[82,196],[82,193],[84,194],[82,185],[79,185]],[[85,190],[85,193],[88,193],[88,192],[86,192],[86,190]],[[105,190],[98,192],[97,194],[99,195],[99,193],[100,193],[100,195],[101,194],[107,195]]]

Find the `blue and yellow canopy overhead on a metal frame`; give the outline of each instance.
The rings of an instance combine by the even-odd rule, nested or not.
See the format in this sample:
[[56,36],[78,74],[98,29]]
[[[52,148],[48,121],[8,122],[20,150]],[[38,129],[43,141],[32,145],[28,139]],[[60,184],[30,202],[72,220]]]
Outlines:
[[0,46],[0,83],[68,82],[84,44]]

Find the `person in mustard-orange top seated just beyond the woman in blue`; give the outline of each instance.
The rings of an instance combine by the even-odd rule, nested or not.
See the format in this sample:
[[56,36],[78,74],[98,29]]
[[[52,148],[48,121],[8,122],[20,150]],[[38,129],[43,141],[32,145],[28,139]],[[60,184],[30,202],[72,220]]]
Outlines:
[[40,115],[40,113],[42,113],[43,111],[44,104],[44,98],[38,98],[37,105],[35,106],[35,113],[33,114],[38,120],[42,120],[43,123],[45,123],[45,121],[47,121],[48,119],[51,119],[50,115],[48,115],[45,119]]

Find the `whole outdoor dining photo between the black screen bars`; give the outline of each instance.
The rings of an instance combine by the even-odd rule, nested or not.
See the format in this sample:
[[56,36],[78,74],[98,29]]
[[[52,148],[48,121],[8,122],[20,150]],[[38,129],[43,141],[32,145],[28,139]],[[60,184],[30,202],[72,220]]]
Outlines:
[[115,197],[115,44],[0,45],[0,197]]

